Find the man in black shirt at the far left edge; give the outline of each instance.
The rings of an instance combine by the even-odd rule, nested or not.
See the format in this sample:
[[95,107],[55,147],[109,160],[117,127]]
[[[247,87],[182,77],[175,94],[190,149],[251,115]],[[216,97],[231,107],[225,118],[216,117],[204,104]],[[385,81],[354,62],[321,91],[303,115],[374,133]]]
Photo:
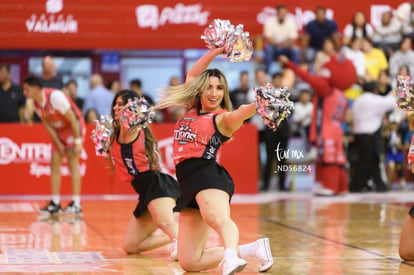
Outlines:
[[22,87],[11,81],[10,65],[0,64],[0,122],[24,122],[25,104]]

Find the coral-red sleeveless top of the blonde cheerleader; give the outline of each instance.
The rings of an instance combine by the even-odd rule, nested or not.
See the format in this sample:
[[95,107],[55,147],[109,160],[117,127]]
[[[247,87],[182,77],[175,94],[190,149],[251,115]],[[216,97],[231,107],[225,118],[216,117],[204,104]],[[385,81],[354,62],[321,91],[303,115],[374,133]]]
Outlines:
[[191,109],[177,122],[173,149],[175,165],[190,158],[216,160],[221,144],[229,138],[219,132],[214,117],[225,112],[200,113]]

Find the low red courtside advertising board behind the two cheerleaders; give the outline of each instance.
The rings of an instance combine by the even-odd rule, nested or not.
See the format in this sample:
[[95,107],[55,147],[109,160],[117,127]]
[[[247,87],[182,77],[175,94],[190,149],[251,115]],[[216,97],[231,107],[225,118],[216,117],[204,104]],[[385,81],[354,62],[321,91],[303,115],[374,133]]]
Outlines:
[[[89,126],[87,137],[94,127]],[[172,161],[172,124],[151,125],[163,156],[162,169],[175,175]],[[223,146],[220,163],[229,171],[236,193],[257,193],[258,140],[253,125],[244,125]],[[43,125],[0,124],[0,194],[50,194],[50,138]],[[128,184],[111,175],[108,160],[95,155],[95,147],[86,138],[80,160],[82,194],[134,194]],[[61,169],[62,194],[71,194],[69,169]]]

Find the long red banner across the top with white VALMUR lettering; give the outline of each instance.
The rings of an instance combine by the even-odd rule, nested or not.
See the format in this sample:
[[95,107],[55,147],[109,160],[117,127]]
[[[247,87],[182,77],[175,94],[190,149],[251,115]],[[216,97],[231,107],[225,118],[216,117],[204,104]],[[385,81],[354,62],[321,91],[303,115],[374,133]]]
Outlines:
[[[299,29],[314,18],[316,6],[342,31],[357,10],[372,22],[404,0],[292,0],[290,16]],[[203,48],[200,35],[214,19],[243,24],[251,36],[275,14],[271,0],[13,0],[0,1],[2,49],[184,49]]]

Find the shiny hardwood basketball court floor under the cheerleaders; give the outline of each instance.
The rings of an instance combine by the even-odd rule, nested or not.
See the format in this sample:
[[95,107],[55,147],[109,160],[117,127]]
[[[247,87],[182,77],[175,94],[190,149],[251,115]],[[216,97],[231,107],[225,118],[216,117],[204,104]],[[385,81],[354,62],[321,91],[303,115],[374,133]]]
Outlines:
[[[46,198],[0,198],[0,272],[192,274],[170,261],[167,247],[136,256],[122,251],[133,196],[85,197],[81,220],[64,215],[41,219],[37,209]],[[414,263],[398,256],[411,204],[412,191],[337,198],[236,195],[232,216],[241,243],[269,237],[275,264],[268,274],[414,274]],[[218,244],[211,234],[209,245]],[[257,262],[249,260],[243,273],[259,274]]]

